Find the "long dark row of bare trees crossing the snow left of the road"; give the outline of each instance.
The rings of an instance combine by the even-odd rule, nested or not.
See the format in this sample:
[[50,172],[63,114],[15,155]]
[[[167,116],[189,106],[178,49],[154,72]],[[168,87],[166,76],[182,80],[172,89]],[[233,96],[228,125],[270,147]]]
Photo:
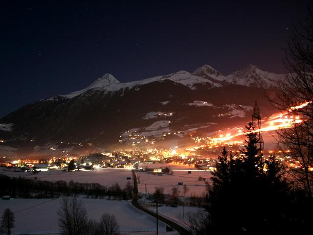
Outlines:
[[14,198],[54,198],[84,194],[91,198],[128,200],[133,196],[133,185],[130,181],[125,188],[121,188],[117,183],[106,187],[98,183],[79,183],[72,180],[68,183],[63,180],[52,182],[23,177],[11,178],[0,174],[0,186],[0,196],[10,195]]

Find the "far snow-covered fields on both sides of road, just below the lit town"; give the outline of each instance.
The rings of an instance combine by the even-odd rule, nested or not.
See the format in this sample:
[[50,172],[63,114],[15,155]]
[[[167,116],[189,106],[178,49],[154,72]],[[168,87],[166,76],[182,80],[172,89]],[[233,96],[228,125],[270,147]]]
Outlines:
[[[205,192],[204,181],[199,181],[199,176],[206,178],[206,181],[210,183],[211,172],[209,171],[198,171],[197,168],[190,167],[181,164],[148,164],[149,167],[165,167],[168,166],[173,170],[173,175],[163,174],[163,175],[153,175],[151,173],[139,172],[137,171],[137,179],[140,181],[138,183],[139,192],[144,193],[147,185],[147,192],[153,193],[156,187],[164,187],[164,193],[171,193],[173,187],[178,187],[182,194],[182,185],[178,185],[178,182],[183,182],[187,185],[189,191],[186,196],[191,196],[192,194],[201,195]],[[188,170],[192,170],[191,174],[188,174]],[[81,183],[99,183],[103,186],[112,186],[112,184],[118,183],[121,188],[124,188],[127,181],[133,184],[133,174],[130,169],[123,168],[101,168],[94,171],[74,171],[67,172],[62,170],[51,170],[42,171],[39,174],[33,174],[31,172],[14,172],[7,170],[0,170],[0,174],[5,174],[11,177],[25,177],[34,178],[37,177],[41,180],[48,181],[58,181],[64,180],[69,182],[73,180],[74,182]],[[131,177],[131,180],[127,180],[127,177]]]

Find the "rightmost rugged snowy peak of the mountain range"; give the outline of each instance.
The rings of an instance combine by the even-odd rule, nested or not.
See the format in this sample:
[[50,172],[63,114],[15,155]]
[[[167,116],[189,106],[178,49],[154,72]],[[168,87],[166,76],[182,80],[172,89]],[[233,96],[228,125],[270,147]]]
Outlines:
[[226,76],[226,81],[229,84],[269,89],[278,87],[279,84],[284,82],[285,77],[285,74],[262,71],[254,65],[248,65],[244,70],[235,71]]

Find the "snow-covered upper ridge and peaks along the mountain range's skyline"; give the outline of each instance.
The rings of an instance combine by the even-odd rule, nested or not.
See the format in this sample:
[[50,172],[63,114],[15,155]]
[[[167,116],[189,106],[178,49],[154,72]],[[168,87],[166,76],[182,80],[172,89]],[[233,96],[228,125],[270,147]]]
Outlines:
[[[77,95],[84,94],[89,90],[100,90],[104,92],[117,92],[120,90],[131,89],[166,79],[182,84],[189,89],[197,90],[201,86],[207,88],[222,87],[227,84],[242,85],[247,87],[273,88],[277,87],[283,81],[284,74],[275,74],[268,71],[262,71],[258,67],[248,65],[244,70],[235,71],[230,75],[224,76],[220,71],[215,70],[209,65],[199,67],[193,73],[187,71],[178,71],[168,75],[155,76],[143,80],[132,82],[119,82],[112,74],[106,73],[101,78],[95,80],[88,87],[72,92],[66,95],[60,95],[66,98],[73,98]],[[50,99],[55,98],[51,97]]]

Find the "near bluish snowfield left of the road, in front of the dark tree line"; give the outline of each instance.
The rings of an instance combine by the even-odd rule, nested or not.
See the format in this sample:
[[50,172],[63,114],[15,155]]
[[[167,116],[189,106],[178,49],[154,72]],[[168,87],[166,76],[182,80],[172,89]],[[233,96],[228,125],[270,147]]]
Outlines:
[[[129,201],[82,198],[89,218],[99,220],[103,213],[113,214],[121,234],[153,234],[156,219],[137,210]],[[15,213],[15,228],[12,234],[58,234],[58,215],[61,199],[13,199],[0,200],[0,214],[6,208]],[[166,233],[165,224],[159,221],[160,234]]]

